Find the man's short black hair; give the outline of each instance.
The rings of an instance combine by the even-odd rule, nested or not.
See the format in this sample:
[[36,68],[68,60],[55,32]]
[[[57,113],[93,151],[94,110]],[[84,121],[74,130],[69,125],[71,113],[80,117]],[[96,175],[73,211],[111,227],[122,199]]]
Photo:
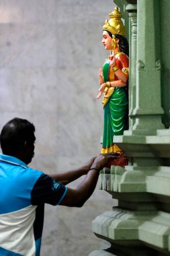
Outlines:
[[35,127],[26,119],[15,117],[1,130],[0,143],[3,154],[15,155],[24,150],[26,141],[35,141]]

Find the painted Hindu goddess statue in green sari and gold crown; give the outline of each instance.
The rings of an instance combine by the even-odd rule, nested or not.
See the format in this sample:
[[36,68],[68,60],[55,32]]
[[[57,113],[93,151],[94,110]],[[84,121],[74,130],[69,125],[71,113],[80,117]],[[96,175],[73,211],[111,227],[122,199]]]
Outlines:
[[123,135],[128,129],[128,40],[118,7],[109,16],[110,20],[105,20],[103,25],[102,43],[110,55],[102,69],[99,68],[100,88],[97,95],[98,99],[103,94],[101,154],[118,152],[123,156],[124,152],[114,143],[114,135]]

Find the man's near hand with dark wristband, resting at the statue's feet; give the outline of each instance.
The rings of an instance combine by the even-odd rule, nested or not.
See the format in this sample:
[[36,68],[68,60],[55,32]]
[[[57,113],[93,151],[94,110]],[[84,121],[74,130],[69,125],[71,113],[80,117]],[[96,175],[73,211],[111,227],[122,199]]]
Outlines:
[[99,154],[93,164],[91,164],[91,169],[95,168],[101,170],[108,165],[110,161],[120,158],[118,153],[108,153],[108,154]]

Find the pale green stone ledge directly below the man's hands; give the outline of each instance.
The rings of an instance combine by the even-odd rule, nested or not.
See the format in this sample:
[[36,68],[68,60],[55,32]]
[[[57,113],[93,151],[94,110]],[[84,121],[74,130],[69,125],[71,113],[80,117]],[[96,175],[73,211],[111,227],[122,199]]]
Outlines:
[[170,196],[169,166],[112,166],[100,172],[99,188],[120,193],[153,193]]

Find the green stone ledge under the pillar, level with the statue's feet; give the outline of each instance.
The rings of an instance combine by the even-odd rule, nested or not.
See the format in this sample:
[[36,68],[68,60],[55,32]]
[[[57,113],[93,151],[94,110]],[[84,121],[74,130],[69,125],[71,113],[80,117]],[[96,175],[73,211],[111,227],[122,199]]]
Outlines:
[[170,158],[170,129],[144,130],[143,133],[127,130],[124,135],[114,136],[114,142],[128,157]]

